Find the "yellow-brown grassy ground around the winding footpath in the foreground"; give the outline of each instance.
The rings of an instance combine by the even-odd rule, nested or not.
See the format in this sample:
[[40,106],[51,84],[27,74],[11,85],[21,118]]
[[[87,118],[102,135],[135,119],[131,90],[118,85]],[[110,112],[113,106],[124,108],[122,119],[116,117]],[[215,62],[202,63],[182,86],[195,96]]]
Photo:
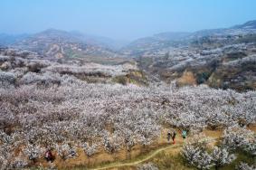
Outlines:
[[[251,127],[251,130],[256,132],[256,126]],[[137,165],[145,164],[147,162],[152,162],[159,167],[159,169],[194,169],[187,165],[184,159],[179,155],[180,150],[184,144],[184,140],[178,133],[176,137],[176,144],[168,144],[166,141],[167,129],[165,128],[161,136],[158,138],[156,143],[151,146],[142,147],[135,146],[131,153],[131,158],[128,159],[128,154],[124,149],[119,151],[115,156],[106,153],[103,149],[100,149],[100,152],[92,156],[89,159],[83,154],[83,151],[79,151],[79,156],[74,159],[69,159],[62,161],[60,157],[57,157],[54,161],[54,164],[57,165],[58,169],[111,169],[111,170],[122,170],[122,169],[137,169]],[[222,130],[204,130],[204,135],[207,138],[219,138],[222,136]],[[209,143],[214,146],[215,142],[213,140]],[[222,169],[234,169],[234,166],[237,165],[240,161],[251,163],[251,159],[244,155],[242,152],[239,153],[238,158],[232,165],[223,167]],[[47,163],[44,160],[38,162],[39,164],[47,166]]]

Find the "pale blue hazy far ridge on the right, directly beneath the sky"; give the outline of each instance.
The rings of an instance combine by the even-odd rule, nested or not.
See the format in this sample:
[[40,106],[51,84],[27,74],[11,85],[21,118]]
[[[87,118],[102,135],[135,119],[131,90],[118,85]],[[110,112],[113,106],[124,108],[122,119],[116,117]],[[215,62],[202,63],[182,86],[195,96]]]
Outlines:
[[121,51],[132,56],[147,55],[153,52],[164,54],[173,47],[187,46],[204,37],[234,36],[249,33],[256,33],[256,21],[232,26],[231,28],[201,30],[194,33],[158,33],[130,42]]

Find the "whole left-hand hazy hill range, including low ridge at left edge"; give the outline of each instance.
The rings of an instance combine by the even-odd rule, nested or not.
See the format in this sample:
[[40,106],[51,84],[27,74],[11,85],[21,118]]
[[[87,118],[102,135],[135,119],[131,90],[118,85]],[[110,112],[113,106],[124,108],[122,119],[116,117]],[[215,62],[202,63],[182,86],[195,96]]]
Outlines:
[[127,44],[108,37],[48,29],[41,33],[10,35],[0,34],[0,47],[38,52],[48,58],[72,57],[122,57],[117,52]]

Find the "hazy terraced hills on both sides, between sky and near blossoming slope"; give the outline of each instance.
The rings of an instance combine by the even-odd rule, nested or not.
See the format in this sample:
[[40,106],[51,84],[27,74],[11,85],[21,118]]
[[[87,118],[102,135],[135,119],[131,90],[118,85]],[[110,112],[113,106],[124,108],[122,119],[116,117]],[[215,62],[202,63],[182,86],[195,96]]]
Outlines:
[[[36,52],[45,59],[81,59],[107,65],[136,61],[144,71],[140,76],[147,74],[150,80],[175,81],[178,86],[204,83],[242,91],[256,87],[255,23],[194,33],[157,33],[121,49],[122,42],[106,37],[54,29],[15,38],[2,35],[0,42]],[[129,77],[115,80],[130,81]]]

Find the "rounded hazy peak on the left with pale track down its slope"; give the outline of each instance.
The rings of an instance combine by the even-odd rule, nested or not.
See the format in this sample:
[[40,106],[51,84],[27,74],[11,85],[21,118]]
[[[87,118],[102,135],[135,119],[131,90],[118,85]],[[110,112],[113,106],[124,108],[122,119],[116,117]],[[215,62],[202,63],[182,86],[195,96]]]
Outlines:
[[118,52],[104,45],[98,37],[55,29],[32,34],[21,41],[14,42],[11,46],[58,59],[64,57],[119,57]]

